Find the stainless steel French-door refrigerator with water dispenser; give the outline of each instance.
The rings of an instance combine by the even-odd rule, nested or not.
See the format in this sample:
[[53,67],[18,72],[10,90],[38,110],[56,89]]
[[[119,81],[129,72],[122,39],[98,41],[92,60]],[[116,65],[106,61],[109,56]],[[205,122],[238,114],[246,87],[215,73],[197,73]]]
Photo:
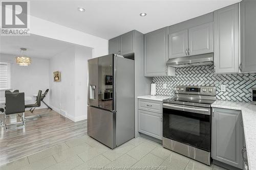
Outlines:
[[[134,60],[114,54],[90,59],[88,72],[88,135],[115,148],[134,138]],[[108,89],[113,94],[105,100]]]

